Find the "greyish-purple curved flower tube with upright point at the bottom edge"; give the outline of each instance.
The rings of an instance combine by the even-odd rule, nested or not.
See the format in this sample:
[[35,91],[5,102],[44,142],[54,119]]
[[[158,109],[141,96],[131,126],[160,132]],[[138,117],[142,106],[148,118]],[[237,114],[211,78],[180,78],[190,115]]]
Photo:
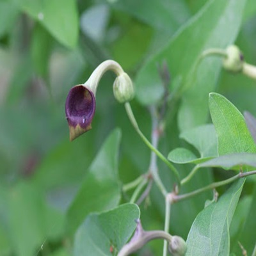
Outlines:
[[170,243],[170,241],[172,241],[172,236],[163,230],[145,231],[141,226],[140,220],[138,220],[134,236],[131,241],[125,244],[125,246],[120,250],[118,256],[130,255],[153,239],[166,239]]

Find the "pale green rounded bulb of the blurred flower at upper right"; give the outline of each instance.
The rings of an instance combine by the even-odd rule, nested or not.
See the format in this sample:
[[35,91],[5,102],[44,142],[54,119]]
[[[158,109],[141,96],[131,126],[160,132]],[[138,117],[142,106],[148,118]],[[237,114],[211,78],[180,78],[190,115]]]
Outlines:
[[244,56],[236,45],[230,45],[226,49],[227,57],[223,60],[223,67],[230,72],[243,70]]

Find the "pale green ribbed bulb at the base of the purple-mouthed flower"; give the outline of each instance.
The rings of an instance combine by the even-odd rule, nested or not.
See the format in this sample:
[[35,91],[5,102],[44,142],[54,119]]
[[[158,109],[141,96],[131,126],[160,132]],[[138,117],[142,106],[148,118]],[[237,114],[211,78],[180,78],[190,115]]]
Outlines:
[[131,78],[125,72],[116,77],[113,92],[116,100],[120,103],[125,103],[133,99],[133,84]]

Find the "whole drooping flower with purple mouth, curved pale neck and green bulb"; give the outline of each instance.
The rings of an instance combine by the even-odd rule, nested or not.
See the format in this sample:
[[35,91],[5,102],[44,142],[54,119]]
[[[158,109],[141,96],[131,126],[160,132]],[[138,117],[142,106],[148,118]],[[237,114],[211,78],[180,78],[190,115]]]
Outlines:
[[113,85],[116,100],[125,103],[134,97],[131,78],[122,67],[113,60],[102,62],[84,84],[74,86],[68,93],[65,111],[70,141],[92,129],[92,120],[96,108],[95,95],[101,77],[108,70],[112,70],[117,76]]

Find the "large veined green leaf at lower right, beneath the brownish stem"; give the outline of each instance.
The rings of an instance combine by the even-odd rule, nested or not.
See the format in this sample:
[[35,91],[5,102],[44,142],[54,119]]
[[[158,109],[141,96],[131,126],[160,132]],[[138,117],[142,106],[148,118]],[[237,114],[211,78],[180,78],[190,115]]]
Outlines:
[[205,207],[196,216],[188,234],[186,256],[229,255],[228,229],[232,221],[244,179],[238,180],[221,196],[218,202]]

